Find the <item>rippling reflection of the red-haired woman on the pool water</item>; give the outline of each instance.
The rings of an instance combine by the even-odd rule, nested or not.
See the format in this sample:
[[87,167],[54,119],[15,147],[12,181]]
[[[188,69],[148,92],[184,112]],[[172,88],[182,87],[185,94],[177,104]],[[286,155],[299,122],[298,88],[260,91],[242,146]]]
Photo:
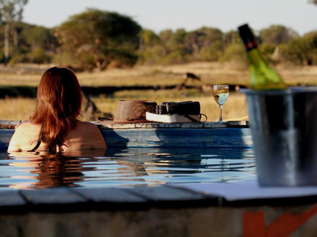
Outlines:
[[[10,166],[21,167],[17,171],[29,171],[36,176],[14,175],[12,178],[35,179],[35,182],[9,185],[17,189],[45,189],[53,187],[81,187],[79,182],[84,180],[84,171],[93,171],[94,167],[83,166],[82,163],[97,162],[94,156],[104,156],[105,149],[77,151],[73,153],[48,152],[12,152],[10,157],[16,161]],[[75,184],[76,183],[76,184]]]

